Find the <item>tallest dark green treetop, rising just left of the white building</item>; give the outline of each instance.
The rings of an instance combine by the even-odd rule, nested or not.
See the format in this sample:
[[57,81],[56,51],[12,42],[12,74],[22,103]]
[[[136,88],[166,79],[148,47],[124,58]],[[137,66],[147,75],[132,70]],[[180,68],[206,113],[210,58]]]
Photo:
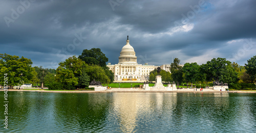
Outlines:
[[106,62],[109,61],[105,54],[100,50],[100,48],[92,48],[90,50],[84,49],[82,54],[78,57],[82,61],[85,61],[89,65],[99,65],[101,67],[106,67]]

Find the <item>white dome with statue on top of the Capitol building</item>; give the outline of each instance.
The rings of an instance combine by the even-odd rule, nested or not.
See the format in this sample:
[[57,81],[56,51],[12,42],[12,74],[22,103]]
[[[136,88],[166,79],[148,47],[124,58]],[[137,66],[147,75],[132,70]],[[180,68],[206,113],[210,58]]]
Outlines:
[[126,44],[123,46],[118,64],[138,64],[133,46],[130,45],[129,36],[127,36]]

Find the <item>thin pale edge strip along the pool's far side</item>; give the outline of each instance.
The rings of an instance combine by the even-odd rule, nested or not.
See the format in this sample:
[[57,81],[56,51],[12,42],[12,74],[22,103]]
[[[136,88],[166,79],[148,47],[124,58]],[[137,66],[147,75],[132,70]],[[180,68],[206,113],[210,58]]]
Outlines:
[[[0,90],[4,91],[4,90]],[[18,91],[18,92],[47,92],[47,93],[111,93],[111,92],[167,92],[167,93],[256,93],[256,91],[216,91],[216,90],[203,90],[203,91],[194,91],[187,89],[179,89],[175,91],[167,91],[167,90],[144,90],[144,89],[119,89],[112,88],[110,90],[104,91],[48,91],[48,90],[16,90],[16,89],[8,89],[8,91]]]

